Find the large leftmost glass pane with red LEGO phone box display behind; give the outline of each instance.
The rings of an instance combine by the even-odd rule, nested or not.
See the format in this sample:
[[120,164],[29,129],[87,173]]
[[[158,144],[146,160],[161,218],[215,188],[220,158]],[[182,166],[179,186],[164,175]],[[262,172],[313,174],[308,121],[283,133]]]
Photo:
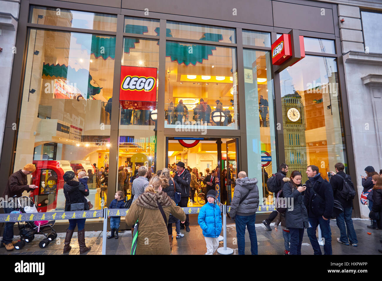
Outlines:
[[63,210],[63,174],[85,171],[97,210],[95,166],[109,163],[115,37],[30,29],[27,48],[14,171],[36,165],[32,183],[50,196],[31,193],[45,202],[42,211]]

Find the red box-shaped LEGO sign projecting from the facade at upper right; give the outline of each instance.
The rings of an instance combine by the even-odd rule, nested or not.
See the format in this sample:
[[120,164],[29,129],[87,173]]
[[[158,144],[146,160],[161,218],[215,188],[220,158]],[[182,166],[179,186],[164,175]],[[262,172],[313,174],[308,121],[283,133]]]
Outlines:
[[[299,36],[301,60],[305,57],[304,37]],[[292,57],[292,42],[290,34],[282,34],[271,46],[273,65],[281,65]],[[298,61],[298,60],[297,60]],[[296,62],[297,62],[296,61]],[[294,65],[296,62],[290,64]]]

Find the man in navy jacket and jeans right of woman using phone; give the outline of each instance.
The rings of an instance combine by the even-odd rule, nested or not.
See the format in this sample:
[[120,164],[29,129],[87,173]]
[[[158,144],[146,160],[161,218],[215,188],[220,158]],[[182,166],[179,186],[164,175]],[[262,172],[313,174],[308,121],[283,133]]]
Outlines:
[[305,182],[304,205],[308,211],[311,227],[307,233],[315,255],[322,255],[317,241],[316,229],[320,226],[322,237],[325,239],[324,254],[332,255],[332,232],[330,230],[330,217],[333,213],[334,198],[332,186],[322,179],[318,167],[309,165],[306,169],[308,180]]

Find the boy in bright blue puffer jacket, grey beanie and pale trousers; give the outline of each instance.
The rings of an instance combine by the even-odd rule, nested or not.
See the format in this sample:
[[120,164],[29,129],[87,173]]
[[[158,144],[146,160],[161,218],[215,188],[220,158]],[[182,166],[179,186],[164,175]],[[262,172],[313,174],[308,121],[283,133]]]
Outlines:
[[219,246],[219,235],[222,232],[222,214],[219,206],[215,203],[215,190],[207,192],[207,201],[200,210],[197,216],[197,223],[203,231],[204,239],[206,240],[207,253],[212,255]]

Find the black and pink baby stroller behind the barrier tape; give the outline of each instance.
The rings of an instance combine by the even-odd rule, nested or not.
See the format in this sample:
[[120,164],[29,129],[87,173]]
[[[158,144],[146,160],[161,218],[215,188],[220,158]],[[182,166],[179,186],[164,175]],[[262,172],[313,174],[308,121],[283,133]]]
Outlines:
[[[12,213],[38,213],[36,206],[32,198],[22,196],[17,200],[19,211],[13,211]],[[25,246],[25,242],[29,243],[34,239],[35,234],[42,234],[45,236],[39,243],[40,248],[45,248],[57,238],[57,232],[54,230],[53,225],[55,221],[26,221],[24,224],[18,222],[18,228],[20,233],[20,241],[14,246],[19,250]]]

